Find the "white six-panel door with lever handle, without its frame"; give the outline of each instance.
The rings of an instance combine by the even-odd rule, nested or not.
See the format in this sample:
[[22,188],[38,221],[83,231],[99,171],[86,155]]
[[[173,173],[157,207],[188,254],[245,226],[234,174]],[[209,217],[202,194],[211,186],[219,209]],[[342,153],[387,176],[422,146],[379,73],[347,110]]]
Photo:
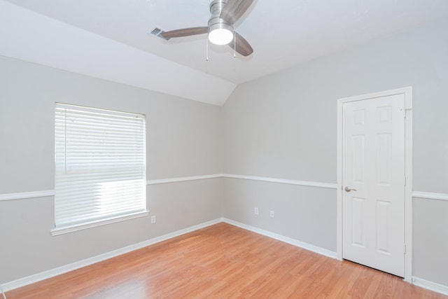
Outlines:
[[405,95],[342,113],[342,257],[404,277]]

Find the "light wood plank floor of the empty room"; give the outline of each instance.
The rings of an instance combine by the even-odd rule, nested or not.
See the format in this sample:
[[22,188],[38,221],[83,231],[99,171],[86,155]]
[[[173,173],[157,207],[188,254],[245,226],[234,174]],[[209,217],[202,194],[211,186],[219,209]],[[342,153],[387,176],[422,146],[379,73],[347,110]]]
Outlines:
[[[226,223],[6,293],[13,298],[448,298]],[[1,298],[1,296],[0,296]]]

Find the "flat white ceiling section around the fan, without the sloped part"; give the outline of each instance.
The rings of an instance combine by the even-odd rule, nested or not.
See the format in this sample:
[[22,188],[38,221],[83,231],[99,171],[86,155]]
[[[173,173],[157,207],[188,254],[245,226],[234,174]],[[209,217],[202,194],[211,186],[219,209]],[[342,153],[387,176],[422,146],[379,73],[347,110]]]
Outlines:
[[228,46],[209,46],[207,62],[205,35],[164,41],[149,32],[206,26],[209,0],[7,1],[235,83],[230,92],[236,84],[448,16],[447,0],[255,0],[235,24],[253,55],[234,58]]

